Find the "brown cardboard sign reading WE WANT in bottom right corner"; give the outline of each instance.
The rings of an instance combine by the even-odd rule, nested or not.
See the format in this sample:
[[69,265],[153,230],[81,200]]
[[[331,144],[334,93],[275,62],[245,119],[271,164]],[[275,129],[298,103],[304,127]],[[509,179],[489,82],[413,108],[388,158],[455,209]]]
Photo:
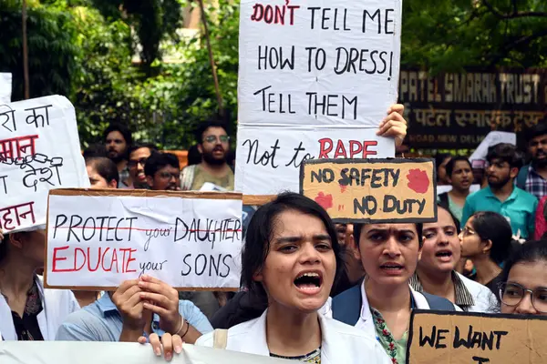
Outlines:
[[547,318],[415,310],[408,364],[540,364],[547,361]]

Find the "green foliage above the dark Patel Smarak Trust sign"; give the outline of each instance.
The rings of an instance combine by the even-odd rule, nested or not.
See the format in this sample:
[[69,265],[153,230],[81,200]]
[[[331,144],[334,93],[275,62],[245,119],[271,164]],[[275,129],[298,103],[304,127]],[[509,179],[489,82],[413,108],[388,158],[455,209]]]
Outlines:
[[401,62],[433,72],[547,66],[547,1],[403,2]]

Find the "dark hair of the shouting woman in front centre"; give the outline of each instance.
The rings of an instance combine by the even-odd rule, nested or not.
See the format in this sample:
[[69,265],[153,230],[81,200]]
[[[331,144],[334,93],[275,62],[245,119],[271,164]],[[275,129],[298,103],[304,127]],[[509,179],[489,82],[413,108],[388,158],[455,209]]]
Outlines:
[[266,292],[262,284],[254,281],[253,276],[263,268],[266,257],[270,252],[277,217],[289,210],[317,217],[325,224],[335,252],[335,282],[346,268],[335,226],[325,209],[308,197],[295,193],[283,193],[277,196],[274,201],[260,207],[254,213],[253,218],[249,222],[249,227],[247,227],[245,244],[243,246],[242,287],[249,288],[250,291],[263,299],[267,299]]

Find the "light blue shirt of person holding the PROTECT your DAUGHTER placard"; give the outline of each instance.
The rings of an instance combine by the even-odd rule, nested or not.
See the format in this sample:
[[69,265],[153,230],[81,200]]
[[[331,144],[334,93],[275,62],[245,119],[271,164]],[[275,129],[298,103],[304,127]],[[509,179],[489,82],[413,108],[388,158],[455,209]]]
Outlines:
[[[209,320],[191,301],[180,300],[179,312],[195,329],[205,334],[212,331]],[[94,303],[68,315],[57,330],[57,341],[119,341],[123,320],[118,308],[104,294]],[[152,330],[161,336],[160,317],[154,314]],[[144,333],[143,333],[144,335]]]

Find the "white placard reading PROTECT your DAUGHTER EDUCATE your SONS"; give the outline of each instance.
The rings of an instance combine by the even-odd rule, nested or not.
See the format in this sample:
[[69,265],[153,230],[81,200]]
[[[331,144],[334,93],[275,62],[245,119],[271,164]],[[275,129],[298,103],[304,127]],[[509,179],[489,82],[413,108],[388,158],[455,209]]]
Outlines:
[[46,287],[240,287],[241,194],[60,189],[48,208]]

